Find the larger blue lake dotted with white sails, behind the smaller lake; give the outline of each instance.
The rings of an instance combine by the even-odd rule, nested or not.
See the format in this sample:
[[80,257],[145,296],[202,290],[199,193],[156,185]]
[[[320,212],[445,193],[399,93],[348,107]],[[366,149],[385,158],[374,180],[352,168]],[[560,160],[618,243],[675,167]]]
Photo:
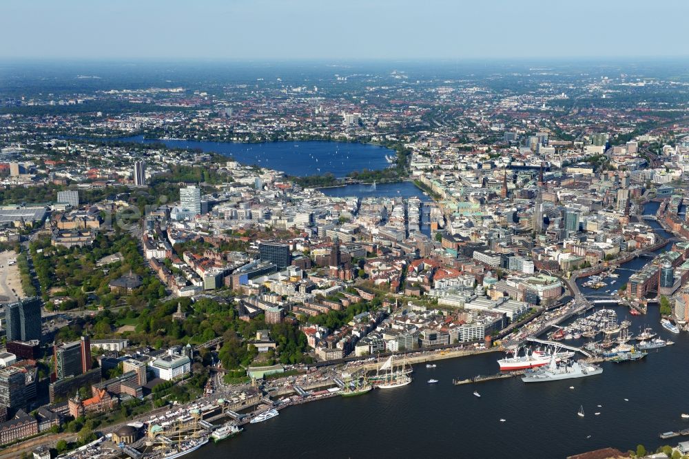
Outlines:
[[347,176],[349,172],[384,169],[389,166],[385,156],[396,157],[394,150],[380,145],[332,141],[238,143],[155,140],[144,139],[143,136],[112,140],[164,143],[170,148],[199,148],[203,152],[232,156],[240,163],[269,167],[292,176],[322,175],[330,172],[339,178]]

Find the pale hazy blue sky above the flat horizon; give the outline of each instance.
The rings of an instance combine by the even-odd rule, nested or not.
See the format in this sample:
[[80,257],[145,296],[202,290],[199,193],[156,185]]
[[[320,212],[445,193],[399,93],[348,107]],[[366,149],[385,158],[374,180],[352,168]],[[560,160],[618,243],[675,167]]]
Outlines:
[[689,55],[688,0],[1,0],[0,57]]

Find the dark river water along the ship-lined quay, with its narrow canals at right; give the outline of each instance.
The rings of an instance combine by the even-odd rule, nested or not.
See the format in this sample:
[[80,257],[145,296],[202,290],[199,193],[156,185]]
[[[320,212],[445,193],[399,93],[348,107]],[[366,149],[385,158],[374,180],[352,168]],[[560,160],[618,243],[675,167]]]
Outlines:
[[[656,208],[650,204],[646,212]],[[625,267],[636,269],[648,261],[641,258]],[[626,282],[623,273],[619,271],[617,285]],[[187,457],[564,458],[602,447],[626,451],[639,443],[647,449],[676,445],[677,438],[660,440],[658,433],[689,428],[680,419],[689,412],[684,397],[689,334],[663,329],[657,307],[650,307],[646,316],[615,309],[619,320],[632,321],[631,332],[650,326],[675,345],[650,351],[637,363],[604,363],[599,376],[542,384],[513,378],[452,385],[453,378],[497,372],[499,353],[440,360],[435,369],[416,365],[411,385],[289,407],[277,418],[247,425],[236,438]],[[427,384],[431,377],[440,383]],[[473,396],[474,390],[482,397]],[[580,405],[584,418],[577,416]]]

